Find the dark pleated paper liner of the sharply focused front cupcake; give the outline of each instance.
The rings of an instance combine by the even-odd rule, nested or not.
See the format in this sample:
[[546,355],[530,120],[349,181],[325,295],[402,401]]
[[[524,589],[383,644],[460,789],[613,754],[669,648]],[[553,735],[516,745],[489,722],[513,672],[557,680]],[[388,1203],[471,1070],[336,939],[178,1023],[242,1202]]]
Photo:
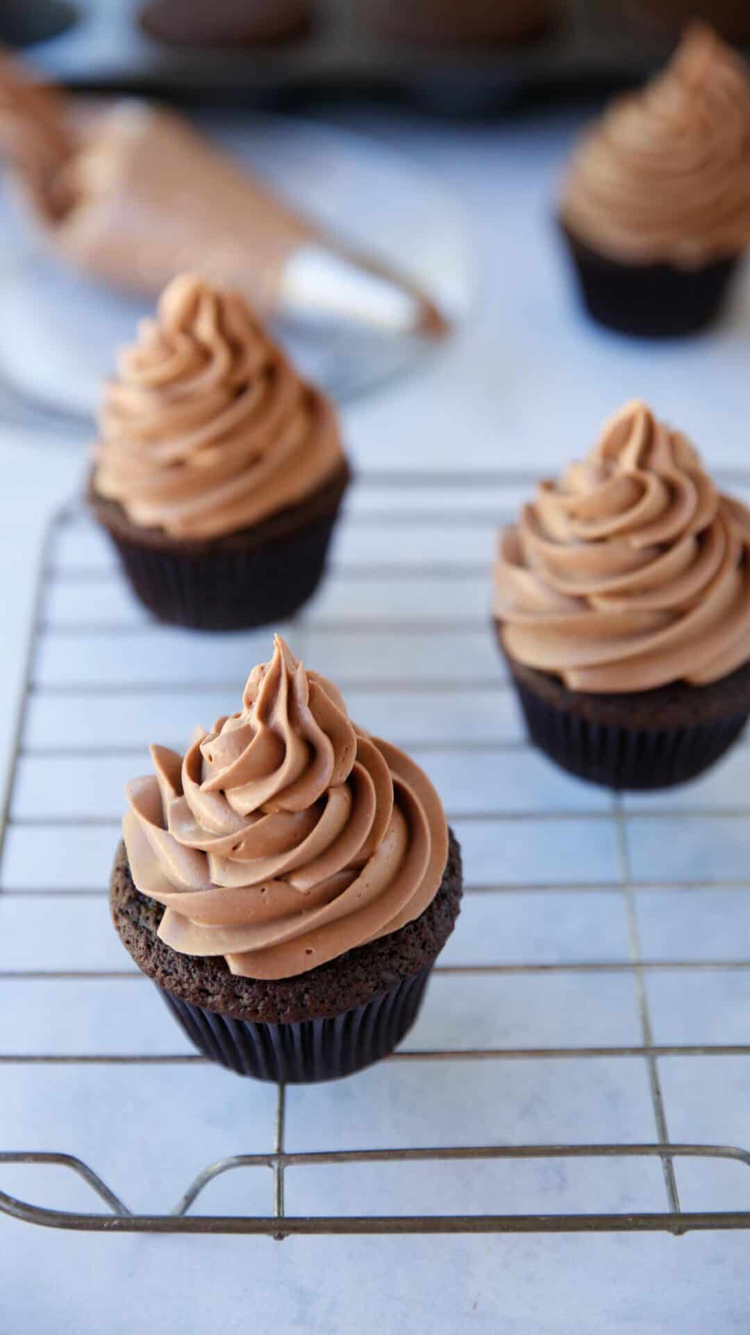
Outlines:
[[411,1029],[431,965],[402,979],[384,996],[327,1020],[259,1024],[181,1001],[155,984],[191,1043],[240,1076],[276,1084],[338,1080],[387,1057]]

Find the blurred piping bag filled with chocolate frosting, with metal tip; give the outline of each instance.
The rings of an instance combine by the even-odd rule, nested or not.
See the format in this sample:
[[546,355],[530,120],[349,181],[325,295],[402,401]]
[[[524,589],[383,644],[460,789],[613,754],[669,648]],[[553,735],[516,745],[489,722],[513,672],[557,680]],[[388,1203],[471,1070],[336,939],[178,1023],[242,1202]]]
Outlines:
[[0,52],[0,156],[49,250],[111,287],[152,298],[187,270],[267,318],[447,332],[416,287],[320,232],[156,104],[128,99],[83,119]]

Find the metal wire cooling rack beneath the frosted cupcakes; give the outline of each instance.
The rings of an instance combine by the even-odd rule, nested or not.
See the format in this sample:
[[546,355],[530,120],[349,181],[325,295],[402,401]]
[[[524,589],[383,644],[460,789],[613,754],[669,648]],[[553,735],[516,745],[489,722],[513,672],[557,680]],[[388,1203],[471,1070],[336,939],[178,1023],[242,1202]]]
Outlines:
[[750,1227],[750,748],[649,797],[530,750],[487,621],[528,481],[360,478],[282,627],[432,773],[467,881],[402,1049],[310,1088],[195,1055],[107,913],[123,781],[232,708],[270,634],[153,626],[83,510],[53,521],[0,836],[0,1210],[276,1238]]

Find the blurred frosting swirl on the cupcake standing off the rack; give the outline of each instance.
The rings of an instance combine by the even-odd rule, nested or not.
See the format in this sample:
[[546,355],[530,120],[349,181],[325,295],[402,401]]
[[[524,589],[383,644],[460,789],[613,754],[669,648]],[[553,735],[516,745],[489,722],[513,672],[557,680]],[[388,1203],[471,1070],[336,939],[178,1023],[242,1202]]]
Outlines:
[[685,268],[750,242],[750,83],[710,28],[617,99],[583,136],[565,186],[570,231],[614,259]]

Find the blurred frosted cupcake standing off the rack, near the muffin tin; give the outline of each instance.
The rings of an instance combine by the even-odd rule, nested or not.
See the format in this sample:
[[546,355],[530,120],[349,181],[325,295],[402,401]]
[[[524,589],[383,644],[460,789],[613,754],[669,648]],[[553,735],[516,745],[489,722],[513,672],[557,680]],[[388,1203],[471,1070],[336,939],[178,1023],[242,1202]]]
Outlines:
[[560,223],[602,324],[675,338],[717,316],[750,242],[750,83],[710,28],[585,134]]

